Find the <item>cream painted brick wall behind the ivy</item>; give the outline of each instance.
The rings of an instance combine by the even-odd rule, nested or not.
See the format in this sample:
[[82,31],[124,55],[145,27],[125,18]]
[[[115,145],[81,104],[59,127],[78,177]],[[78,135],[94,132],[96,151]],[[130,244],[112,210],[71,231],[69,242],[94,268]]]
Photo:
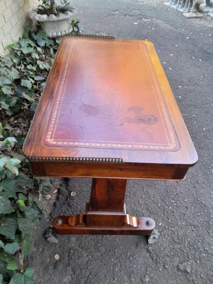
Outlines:
[[38,0],[0,0],[0,54],[8,53],[7,45],[22,36],[27,12],[37,5]]

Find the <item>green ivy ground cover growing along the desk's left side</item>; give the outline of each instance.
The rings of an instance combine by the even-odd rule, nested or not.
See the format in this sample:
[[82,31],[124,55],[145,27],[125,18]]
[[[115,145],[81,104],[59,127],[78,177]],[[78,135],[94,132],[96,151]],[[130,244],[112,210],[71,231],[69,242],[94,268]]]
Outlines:
[[59,41],[26,27],[0,56],[0,283],[28,284],[33,269],[17,272],[16,255],[35,251],[38,194],[50,193],[53,178],[34,178],[22,146],[44,89]]

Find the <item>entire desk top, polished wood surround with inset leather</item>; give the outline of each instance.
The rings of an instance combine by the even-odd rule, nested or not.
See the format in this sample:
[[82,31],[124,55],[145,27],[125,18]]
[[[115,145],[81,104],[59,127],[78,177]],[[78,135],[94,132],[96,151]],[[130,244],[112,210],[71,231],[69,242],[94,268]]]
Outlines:
[[197,161],[153,44],[85,35],[62,39],[23,150],[35,162]]

